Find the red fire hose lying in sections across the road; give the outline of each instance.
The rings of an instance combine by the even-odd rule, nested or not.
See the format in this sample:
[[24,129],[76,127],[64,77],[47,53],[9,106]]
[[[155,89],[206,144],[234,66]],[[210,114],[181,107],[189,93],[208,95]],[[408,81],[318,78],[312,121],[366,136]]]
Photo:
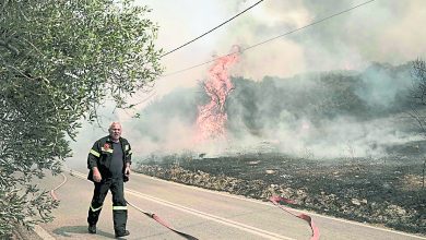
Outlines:
[[[78,178],[83,178],[83,177],[80,176],[79,173],[74,173],[72,170],[69,170],[69,172],[70,172],[71,176],[75,176],[75,177],[78,177]],[[56,188],[54,188],[52,190],[50,190],[50,195],[51,195],[51,197],[52,197],[55,201],[59,201],[59,199],[58,199],[58,196],[56,195],[55,191],[58,190],[59,188],[61,188],[61,187],[68,181],[66,175],[61,173],[61,176],[62,176],[62,178],[63,178],[63,181],[62,181],[59,185],[57,185]],[[83,178],[83,179],[85,179],[85,178]],[[312,230],[312,235],[311,235],[310,240],[319,240],[319,237],[320,237],[319,229],[318,229],[318,227],[315,225],[315,223],[313,223],[313,220],[312,220],[312,218],[311,218],[310,216],[308,216],[308,215],[306,215],[306,214],[295,214],[295,213],[293,213],[289,208],[284,207],[284,206],[282,206],[282,205],[280,204],[280,202],[285,202],[285,203],[288,203],[288,204],[295,204],[294,201],[284,199],[284,197],[282,197],[282,196],[271,196],[271,197],[270,197],[270,201],[271,201],[275,206],[277,206],[277,207],[280,207],[281,209],[283,209],[284,212],[286,212],[286,213],[288,213],[288,214],[291,214],[291,215],[293,215],[293,216],[295,216],[295,217],[298,217],[298,218],[300,218],[300,219],[306,220],[306,221],[309,224],[309,226],[310,226],[310,228],[311,228],[311,230]],[[158,217],[156,214],[145,212],[145,211],[139,208],[138,206],[135,206],[134,204],[132,204],[132,203],[130,203],[130,202],[128,202],[128,201],[126,201],[126,203],[129,204],[129,205],[130,205],[131,207],[133,207],[134,209],[139,211],[140,213],[144,214],[145,216],[147,216],[147,217],[154,219],[154,220],[157,221],[158,224],[161,224],[161,225],[163,225],[164,227],[168,228],[169,230],[174,231],[175,233],[177,233],[177,235],[184,237],[185,239],[188,239],[188,240],[198,240],[198,238],[196,238],[196,237],[193,237],[193,236],[191,236],[191,235],[188,235],[188,233],[181,232],[181,231],[179,231],[179,230],[176,230],[174,227],[171,227],[169,224],[167,224],[167,221],[163,220],[163,219],[162,219],[161,217]]]

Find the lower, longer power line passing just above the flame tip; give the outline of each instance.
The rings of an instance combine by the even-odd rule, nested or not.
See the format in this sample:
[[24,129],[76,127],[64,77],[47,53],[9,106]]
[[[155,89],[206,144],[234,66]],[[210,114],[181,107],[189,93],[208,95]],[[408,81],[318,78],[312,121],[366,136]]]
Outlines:
[[247,47],[247,48],[239,49],[238,51],[234,51],[234,52],[230,52],[230,53],[227,53],[227,55],[223,55],[223,56],[216,57],[216,58],[214,58],[214,59],[212,59],[212,60],[210,60],[210,61],[205,61],[205,62],[202,62],[202,63],[199,63],[199,64],[196,64],[196,65],[186,68],[186,69],[181,69],[181,70],[178,70],[178,71],[168,73],[168,74],[164,74],[164,75],[162,75],[162,76],[165,77],[165,76],[169,76],[169,75],[175,75],[175,74],[177,74],[177,73],[186,72],[186,71],[188,71],[188,70],[191,70],[191,69],[194,69],[194,68],[198,68],[198,67],[201,67],[201,65],[205,65],[205,64],[208,64],[208,63],[211,63],[211,62],[216,61],[217,59],[221,59],[221,58],[223,58],[223,57],[227,57],[227,56],[230,56],[230,55],[234,55],[234,53],[237,53],[237,52],[242,53],[244,51],[247,51],[247,50],[249,50],[249,49],[256,48],[256,47],[258,47],[258,46],[260,46],[260,45],[263,45],[263,44],[267,44],[267,43],[269,43],[269,41],[275,40],[275,39],[277,39],[277,38],[280,38],[280,37],[284,37],[284,36],[291,35],[291,34],[293,34],[293,33],[295,33],[295,32],[305,29],[305,28],[307,28],[307,27],[317,25],[317,24],[322,23],[322,22],[324,22],[324,21],[327,21],[327,20],[330,20],[330,19],[332,19],[332,17],[334,17],[334,16],[338,16],[338,15],[341,15],[341,14],[343,14],[343,13],[350,12],[350,11],[352,11],[352,10],[355,10],[355,9],[357,9],[357,8],[359,8],[359,7],[363,7],[363,5],[365,5],[365,4],[371,3],[371,2],[374,2],[374,1],[376,1],[376,0],[366,1],[366,2],[364,2],[364,3],[354,5],[354,7],[352,7],[352,8],[348,8],[348,9],[346,9],[346,10],[343,10],[343,11],[341,11],[341,12],[334,13],[334,14],[332,14],[332,15],[329,15],[329,16],[326,16],[326,17],[320,19],[320,20],[318,20],[318,21],[315,21],[315,22],[312,22],[312,23],[309,23],[309,24],[307,24],[307,25],[305,25],[305,26],[301,26],[301,27],[295,28],[295,29],[293,29],[293,31],[289,31],[289,32],[287,32],[287,33],[281,34],[281,35],[279,35],[279,36],[269,38],[269,39],[267,39],[267,40],[263,40],[263,41],[261,41],[261,43],[255,44],[255,45],[249,46],[249,47]]

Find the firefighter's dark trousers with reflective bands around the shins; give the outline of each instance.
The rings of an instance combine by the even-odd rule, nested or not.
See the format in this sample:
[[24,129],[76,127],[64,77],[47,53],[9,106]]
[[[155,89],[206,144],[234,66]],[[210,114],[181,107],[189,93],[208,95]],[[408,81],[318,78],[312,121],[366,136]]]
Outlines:
[[113,193],[114,230],[116,232],[122,232],[126,230],[127,223],[127,204],[122,179],[106,179],[102,180],[102,182],[95,182],[92,203],[88,207],[87,223],[90,225],[96,225],[108,190]]

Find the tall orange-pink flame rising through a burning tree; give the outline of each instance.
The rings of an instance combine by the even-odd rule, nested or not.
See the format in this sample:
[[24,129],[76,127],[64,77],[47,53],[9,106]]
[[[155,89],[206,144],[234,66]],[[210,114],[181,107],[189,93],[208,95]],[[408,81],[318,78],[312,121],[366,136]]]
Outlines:
[[215,60],[209,69],[208,79],[202,82],[210,103],[198,107],[197,141],[226,137],[225,123],[227,115],[225,103],[234,89],[228,69],[237,62],[239,47],[234,46],[233,53]]

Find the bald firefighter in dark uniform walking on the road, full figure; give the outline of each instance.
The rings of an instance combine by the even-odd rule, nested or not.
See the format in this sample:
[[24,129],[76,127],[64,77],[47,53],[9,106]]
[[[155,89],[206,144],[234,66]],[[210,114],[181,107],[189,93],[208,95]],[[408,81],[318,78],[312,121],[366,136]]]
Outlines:
[[93,144],[87,157],[90,169],[87,179],[95,183],[92,203],[88,208],[88,232],[96,233],[96,223],[99,219],[102,206],[108,190],[113,193],[113,217],[116,237],[130,235],[126,229],[127,204],[125,184],[129,180],[131,148],[126,139],[121,137],[121,124],[113,122],[108,129],[109,135]]

